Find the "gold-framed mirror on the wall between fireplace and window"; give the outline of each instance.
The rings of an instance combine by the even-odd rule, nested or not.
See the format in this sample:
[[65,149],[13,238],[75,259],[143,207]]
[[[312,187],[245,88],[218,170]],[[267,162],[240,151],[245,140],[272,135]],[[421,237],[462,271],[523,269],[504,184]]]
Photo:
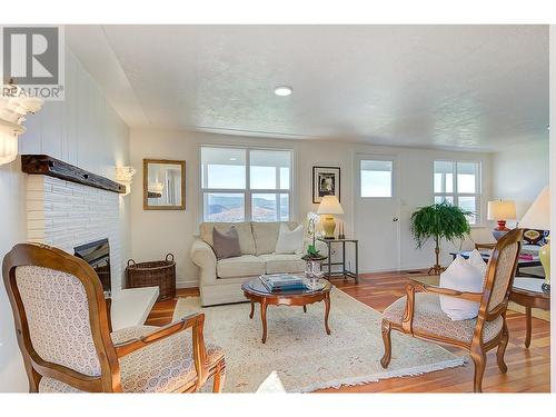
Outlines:
[[186,161],[143,159],[143,209],[186,209]]

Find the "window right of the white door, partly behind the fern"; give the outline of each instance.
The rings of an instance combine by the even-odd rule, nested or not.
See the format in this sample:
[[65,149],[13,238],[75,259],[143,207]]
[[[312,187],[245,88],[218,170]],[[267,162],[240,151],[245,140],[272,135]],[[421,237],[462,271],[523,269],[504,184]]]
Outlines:
[[464,210],[470,225],[480,221],[480,163],[435,161],[435,202],[448,201]]

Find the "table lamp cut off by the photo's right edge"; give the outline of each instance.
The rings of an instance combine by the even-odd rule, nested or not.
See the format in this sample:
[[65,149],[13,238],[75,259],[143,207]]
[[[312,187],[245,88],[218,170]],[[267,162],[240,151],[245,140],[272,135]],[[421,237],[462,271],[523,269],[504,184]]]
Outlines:
[[[538,195],[537,199],[529,207],[525,216],[519,221],[522,229],[539,229],[550,230],[550,189],[545,187]],[[545,284],[543,290],[550,290],[550,241],[546,238],[547,244],[538,251],[538,259],[545,269]]]

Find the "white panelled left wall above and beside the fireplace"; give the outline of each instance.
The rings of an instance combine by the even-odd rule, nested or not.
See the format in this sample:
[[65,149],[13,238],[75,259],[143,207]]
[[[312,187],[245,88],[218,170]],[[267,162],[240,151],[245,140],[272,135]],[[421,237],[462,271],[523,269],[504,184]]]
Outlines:
[[[70,50],[66,51],[66,101],[47,102],[26,122],[20,153],[47,153],[92,172],[113,178],[113,167],[129,159],[129,130]],[[27,240],[26,182],[20,159],[0,166],[0,259]],[[122,198],[122,197],[120,197]],[[122,257],[129,247],[127,197],[122,202]],[[0,286],[0,391],[28,389],[16,340],[12,312]]]

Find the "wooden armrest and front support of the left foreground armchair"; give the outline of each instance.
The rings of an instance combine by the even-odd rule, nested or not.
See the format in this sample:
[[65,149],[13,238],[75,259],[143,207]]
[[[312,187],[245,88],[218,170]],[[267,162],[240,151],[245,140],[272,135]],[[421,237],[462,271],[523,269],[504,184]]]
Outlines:
[[205,315],[202,312],[197,312],[191,316],[183,317],[179,321],[170,322],[169,325],[163,326],[149,335],[115,344],[113,347],[116,348],[116,355],[118,358],[121,358],[138,349],[142,349],[148,345],[176,335],[179,331],[192,328],[193,363],[198,376],[197,385],[200,387],[205,384],[208,374],[207,351],[205,349],[205,337],[202,334],[203,326]]

